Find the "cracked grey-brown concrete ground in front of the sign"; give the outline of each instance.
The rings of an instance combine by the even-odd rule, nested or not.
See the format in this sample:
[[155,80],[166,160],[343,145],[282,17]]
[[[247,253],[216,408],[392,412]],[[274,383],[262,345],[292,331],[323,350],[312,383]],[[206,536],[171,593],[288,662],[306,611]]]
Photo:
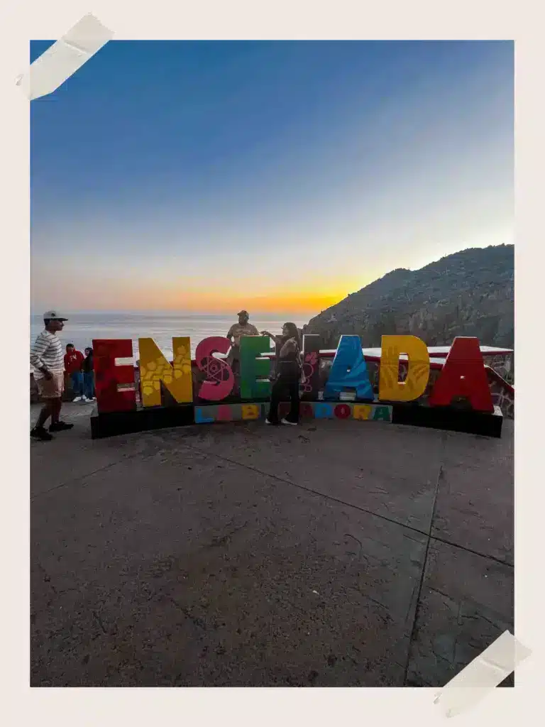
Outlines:
[[512,422],[63,417],[31,443],[31,686],[442,686],[513,629]]

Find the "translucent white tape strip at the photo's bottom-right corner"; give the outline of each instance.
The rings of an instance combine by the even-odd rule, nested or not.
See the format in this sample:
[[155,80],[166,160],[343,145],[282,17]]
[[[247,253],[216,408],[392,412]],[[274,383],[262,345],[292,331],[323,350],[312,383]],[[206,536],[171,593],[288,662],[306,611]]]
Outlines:
[[512,633],[504,631],[443,687],[435,704],[441,705],[447,717],[459,715],[493,691],[531,653]]

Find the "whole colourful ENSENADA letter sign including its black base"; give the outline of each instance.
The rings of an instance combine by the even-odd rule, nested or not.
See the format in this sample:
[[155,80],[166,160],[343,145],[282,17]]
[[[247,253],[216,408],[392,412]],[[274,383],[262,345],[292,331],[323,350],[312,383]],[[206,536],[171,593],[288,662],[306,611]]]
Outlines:
[[[94,340],[93,348],[97,392],[93,436],[187,423],[249,421],[267,415],[273,358],[268,337],[241,339],[238,377],[228,361],[215,356],[230,350],[230,341],[225,337],[199,342],[194,362],[187,336],[172,340],[173,361],[166,360],[151,338],[141,338],[139,371],[129,364],[117,364],[118,358],[132,358],[131,340]],[[302,419],[394,423],[403,419],[403,423],[462,430],[472,430],[475,422],[480,422],[479,433],[487,433],[480,431],[483,417],[493,417],[493,435],[501,431],[501,417],[493,406],[477,338],[454,340],[431,391],[427,345],[415,336],[382,337],[378,392],[377,382],[375,386],[371,382],[358,336],[341,337],[325,383],[320,374],[320,337],[305,335],[302,354]],[[460,401],[464,406],[459,406]],[[427,413],[423,414],[424,409]],[[458,424],[445,426],[445,414],[453,420],[457,417]],[[407,420],[411,417],[414,422]],[[469,429],[462,419],[470,422]]]

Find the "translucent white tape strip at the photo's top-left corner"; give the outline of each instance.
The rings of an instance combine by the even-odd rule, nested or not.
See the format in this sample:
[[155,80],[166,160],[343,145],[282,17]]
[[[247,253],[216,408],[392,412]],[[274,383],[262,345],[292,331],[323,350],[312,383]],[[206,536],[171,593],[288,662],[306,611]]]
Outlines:
[[31,63],[28,71],[17,79],[17,86],[30,100],[47,96],[112,38],[113,32],[94,15],[84,15],[68,33]]

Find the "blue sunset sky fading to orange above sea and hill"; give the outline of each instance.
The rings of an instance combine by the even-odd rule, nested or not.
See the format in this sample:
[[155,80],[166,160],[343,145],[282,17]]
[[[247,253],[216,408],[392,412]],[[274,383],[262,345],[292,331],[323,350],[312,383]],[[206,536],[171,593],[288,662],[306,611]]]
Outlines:
[[512,243],[513,82],[511,41],[110,41],[31,103],[31,308],[312,316]]

